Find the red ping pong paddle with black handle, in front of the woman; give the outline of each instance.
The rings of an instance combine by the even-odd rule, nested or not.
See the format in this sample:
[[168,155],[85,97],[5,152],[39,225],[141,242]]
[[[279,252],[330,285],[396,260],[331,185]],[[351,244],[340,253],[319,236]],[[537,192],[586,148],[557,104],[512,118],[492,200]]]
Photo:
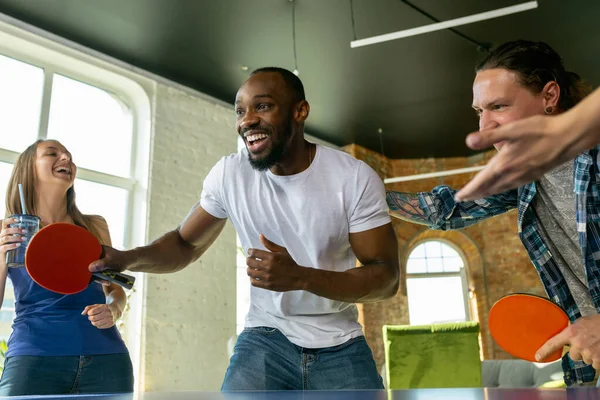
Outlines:
[[114,282],[131,289],[135,277],[106,270],[91,273],[91,262],[102,255],[102,246],[88,230],[73,224],[56,223],[37,232],[27,245],[25,266],[41,287],[61,294],[84,290],[90,281]]

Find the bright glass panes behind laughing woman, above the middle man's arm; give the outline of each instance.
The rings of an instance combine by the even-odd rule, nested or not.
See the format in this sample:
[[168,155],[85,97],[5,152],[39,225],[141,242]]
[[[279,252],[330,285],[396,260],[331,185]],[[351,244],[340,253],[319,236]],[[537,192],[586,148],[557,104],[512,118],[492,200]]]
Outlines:
[[37,139],[56,139],[78,166],[79,208],[84,214],[102,215],[113,245],[124,247],[133,186],[131,107],[104,89],[0,55],[0,87],[4,85],[8,90],[0,90],[0,193],[6,193],[18,153]]

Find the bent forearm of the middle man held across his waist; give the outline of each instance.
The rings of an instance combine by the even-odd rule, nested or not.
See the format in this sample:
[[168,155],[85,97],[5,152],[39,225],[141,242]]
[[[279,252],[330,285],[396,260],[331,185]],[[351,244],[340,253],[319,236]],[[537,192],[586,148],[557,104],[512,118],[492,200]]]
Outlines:
[[306,268],[302,289],[347,303],[369,303],[393,297],[398,291],[397,266],[369,264],[344,272]]

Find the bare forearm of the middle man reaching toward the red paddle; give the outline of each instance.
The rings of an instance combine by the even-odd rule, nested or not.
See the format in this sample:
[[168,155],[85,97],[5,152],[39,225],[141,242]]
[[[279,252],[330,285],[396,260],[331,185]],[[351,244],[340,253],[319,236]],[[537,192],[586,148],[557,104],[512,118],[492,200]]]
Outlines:
[[127,251],[133,260],[127,269],[154,274],[177,272],[196,261],[204,251],[206,248],[190,245],[183,240],[178,230],[174,230],[147,246]]

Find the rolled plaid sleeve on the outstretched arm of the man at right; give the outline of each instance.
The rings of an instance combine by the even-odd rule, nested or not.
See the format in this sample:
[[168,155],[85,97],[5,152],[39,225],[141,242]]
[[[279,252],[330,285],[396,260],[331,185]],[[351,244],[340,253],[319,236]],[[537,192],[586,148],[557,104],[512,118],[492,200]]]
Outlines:
[[516,189],[461,203],[454,201],[456,192],[448,186],[437,186],[431,192],[419,193],[419,205],[429,221],[430,228],[441,230],[466,228],[517,207]]

